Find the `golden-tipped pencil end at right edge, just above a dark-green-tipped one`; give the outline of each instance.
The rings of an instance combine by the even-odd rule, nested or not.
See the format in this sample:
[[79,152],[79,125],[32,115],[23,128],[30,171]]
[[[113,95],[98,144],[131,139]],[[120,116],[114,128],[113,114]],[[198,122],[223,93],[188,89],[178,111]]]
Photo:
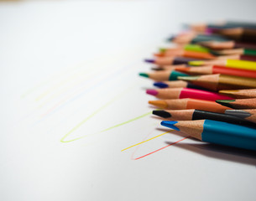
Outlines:
[[219,90],[222,95],[228,95],[234,99],[256,98],[256,89],[251,90]]

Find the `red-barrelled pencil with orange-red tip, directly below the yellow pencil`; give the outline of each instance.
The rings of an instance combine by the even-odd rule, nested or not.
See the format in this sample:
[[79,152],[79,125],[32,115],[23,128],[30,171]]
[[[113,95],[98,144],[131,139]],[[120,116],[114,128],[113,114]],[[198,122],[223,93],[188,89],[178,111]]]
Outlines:
[[222,75],[235,75],[241,77],[256,78],[256,70],[243,70],[227,68],[226,66],[208,65],[198,67],[180,67],[176,69],[189,75],[207,75],[207,74],[222,74]]

